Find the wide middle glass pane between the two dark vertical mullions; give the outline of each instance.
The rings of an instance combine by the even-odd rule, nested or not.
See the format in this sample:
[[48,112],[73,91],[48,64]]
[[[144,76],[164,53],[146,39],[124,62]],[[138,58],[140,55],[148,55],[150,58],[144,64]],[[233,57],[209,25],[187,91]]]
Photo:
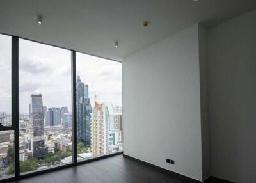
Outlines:
[[70,58],[19,40],[20,173],[72,163]]

